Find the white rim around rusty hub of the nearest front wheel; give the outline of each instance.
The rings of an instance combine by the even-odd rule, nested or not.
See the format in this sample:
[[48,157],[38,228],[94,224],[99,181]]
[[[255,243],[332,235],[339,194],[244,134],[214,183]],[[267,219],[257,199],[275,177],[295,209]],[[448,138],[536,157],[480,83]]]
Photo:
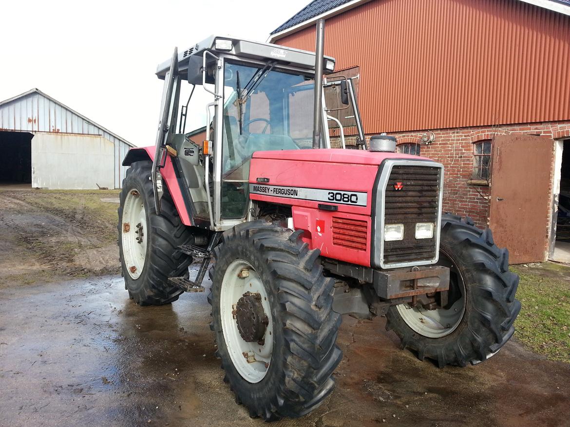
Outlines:
[[[249,277],[238,277],[238,274],[244,269],[248,270]],[[239,334],[237,321],[232,313],[235,310],[238,299],[248,291],[260,295],[263,311],[268,318],[263,345],[243,340]],[[219,309],[222,319],[223,339],[226,342],[231,362],[243,379],[250,383],[259,383],[267,374],[269,364],[271,363],[273,321],[267,291],[259,274],[255,272],[249,262],[235,260],[226,269],[222,280]]]

